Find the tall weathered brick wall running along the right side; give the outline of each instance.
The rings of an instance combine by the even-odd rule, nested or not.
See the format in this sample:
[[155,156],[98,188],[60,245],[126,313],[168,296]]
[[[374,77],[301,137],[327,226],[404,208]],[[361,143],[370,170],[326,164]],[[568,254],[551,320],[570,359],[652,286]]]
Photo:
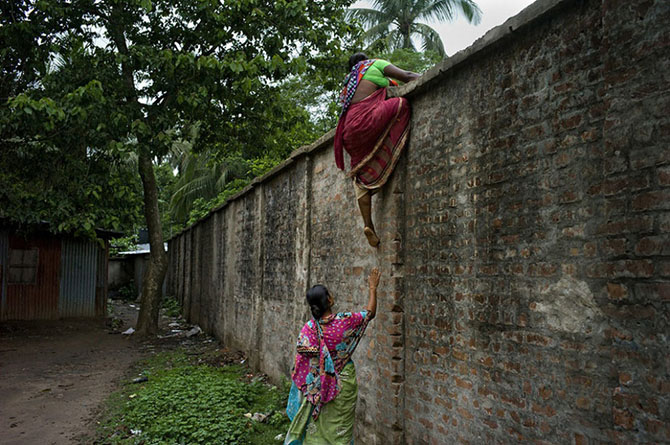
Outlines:
[[536,2],[399,91],[367,247],[332,132],[170,241],[193,322],[288,376],[325,284],[380,310],[365,444],[670,442],[670,4]]

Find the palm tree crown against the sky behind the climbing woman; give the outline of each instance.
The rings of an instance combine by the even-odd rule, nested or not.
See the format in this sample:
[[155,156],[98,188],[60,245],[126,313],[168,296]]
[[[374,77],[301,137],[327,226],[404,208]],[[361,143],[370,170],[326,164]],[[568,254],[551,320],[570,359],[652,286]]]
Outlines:
[[412,36],[419,37],[423,51],[446,56],[440,35],[418,20],[450,21],[457,11],[470,23],[479,23],[482,12],[473,0],[372,0],[373,8],[352,8],[351,18],[368,28],[365,41],[382,44],[389,50],[415,50]]

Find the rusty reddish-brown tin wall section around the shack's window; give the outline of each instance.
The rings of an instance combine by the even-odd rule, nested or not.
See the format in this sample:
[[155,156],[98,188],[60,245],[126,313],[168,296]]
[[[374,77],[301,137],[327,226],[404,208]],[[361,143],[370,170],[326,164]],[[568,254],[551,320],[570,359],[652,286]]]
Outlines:
[[[51,235],[10,235],[9,251],[37,249],[38,264],[34,283],[13,284],[6,282],[6,303],[3,320],[44,320],[58,318],[58,291],[61,266],[61,242]],[[5,299],[3,299],[4,302]]]

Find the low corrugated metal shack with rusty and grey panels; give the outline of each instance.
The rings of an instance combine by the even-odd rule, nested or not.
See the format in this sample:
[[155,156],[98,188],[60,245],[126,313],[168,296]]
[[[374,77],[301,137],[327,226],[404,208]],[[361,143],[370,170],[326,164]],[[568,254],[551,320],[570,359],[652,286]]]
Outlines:
[[0,223],[0,321],[100,317],[107,311],[109,238],[104,246]]

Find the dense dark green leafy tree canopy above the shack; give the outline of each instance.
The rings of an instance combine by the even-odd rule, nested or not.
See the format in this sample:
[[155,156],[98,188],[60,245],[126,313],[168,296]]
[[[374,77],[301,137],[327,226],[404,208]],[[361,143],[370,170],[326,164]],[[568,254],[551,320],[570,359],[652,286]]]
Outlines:
[[0,216],[128,228],[138,156],[159,164],[188,143],[211,162],[283,157],[314,134],[285,79],[337,70],[349,3],[3,4]]

